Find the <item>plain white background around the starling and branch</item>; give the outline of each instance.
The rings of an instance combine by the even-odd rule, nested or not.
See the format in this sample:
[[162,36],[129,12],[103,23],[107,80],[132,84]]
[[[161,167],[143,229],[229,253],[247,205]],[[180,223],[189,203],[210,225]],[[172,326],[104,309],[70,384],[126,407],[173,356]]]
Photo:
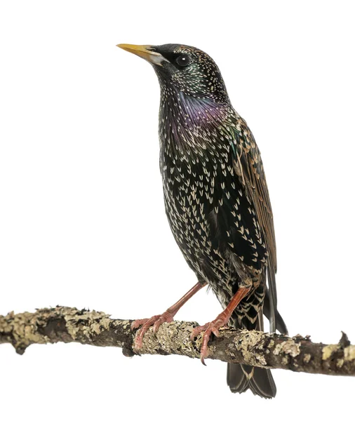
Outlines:
[[[60,304],[147,317],[195,283],[163,209],[156,76],[115,46],[181,43],[215,59],[262,151],[290,334],[355,341],[353,5],[1,1],[0,314]],[[178,319],[218,312],[203,291]],[[354,378],[274,371],[278,394],[264,401],[231,394],[225,364],[207,363],[1,345],[1,419],[353,413]]]

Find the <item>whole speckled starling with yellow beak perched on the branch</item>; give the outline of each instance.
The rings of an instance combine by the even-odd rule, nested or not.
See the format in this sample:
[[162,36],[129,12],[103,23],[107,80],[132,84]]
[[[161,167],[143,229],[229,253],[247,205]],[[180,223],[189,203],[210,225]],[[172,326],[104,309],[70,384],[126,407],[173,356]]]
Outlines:
[[[208,341],[222,326],[287,334],[276,309],[276,243],[272,207],[260,151],[246,121],[234,110],[215,62],[203,51],[181,44],[135,46],[123,50],[150,62],[159,79],[160,170],[169,225],[196,285],[163,314],[140,319],[135,348],[150,326],[173,321],[178,309],[203,286],[224,308],[203,333]],[[276,394],[270,370],[228,364],[232,392],[264,398]]]

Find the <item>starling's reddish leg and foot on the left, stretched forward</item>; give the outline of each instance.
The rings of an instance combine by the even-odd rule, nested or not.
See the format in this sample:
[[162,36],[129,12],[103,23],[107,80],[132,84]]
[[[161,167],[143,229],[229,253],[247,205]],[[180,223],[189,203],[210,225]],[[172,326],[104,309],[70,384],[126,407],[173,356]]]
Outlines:
[[131,329],[136,329],[142,326],[137,336],[135,337],[135,349],[139,350],[142,348],[144,335],[150,326],[153,326],[153,332],[156,333],[162,323],[170,323],[170,321],[173,321],[175,314],[178,313],[179,309],[185,304],[185,302],[192,298],[192,295],[195,295],[197,291],[206,285],[207,283],[196,283],[196,285],[193,286],[182,298],[180,298],[178,302],[175,302],[175,304],[169,307],[166,312],[163,312],[163,314],[158,314],[157,316],[153,316],[150,319],[137,319],[133,321],[133,323],[130,325]]

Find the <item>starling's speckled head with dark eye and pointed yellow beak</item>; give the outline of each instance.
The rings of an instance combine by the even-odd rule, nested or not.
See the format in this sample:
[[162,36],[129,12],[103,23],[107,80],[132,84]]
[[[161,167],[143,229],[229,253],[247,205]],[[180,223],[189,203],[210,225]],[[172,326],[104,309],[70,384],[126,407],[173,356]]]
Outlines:
[[159,77],[161,88],[180,91],[190,97],[229,104],[225,83],[215,62],[198,48],[181,44],[135,46],[119,44],[120,48],[150,62]]

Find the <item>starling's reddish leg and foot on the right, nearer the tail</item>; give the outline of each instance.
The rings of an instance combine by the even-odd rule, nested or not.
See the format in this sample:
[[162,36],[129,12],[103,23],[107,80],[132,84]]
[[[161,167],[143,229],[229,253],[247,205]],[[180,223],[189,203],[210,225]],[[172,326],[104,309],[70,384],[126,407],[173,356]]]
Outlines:
[[203,365],[206,366],[205,358],[208,356],[208,341],[210,340],[210,335],[212,333],[215,336],[220,335],[218,329],[227,325],[230,317],[232,316],[232,313],[234,312],[234,309],[237,305],[239,305],[239,302],[243,300],[243,298],[248,294],[249,291],[250,286],[240,287],[239,290],[237,290],[236,293],[233,295],[233,298],[232,300],[230,300],[229,305],[227,305],[227,307],[221,314],[218,314],[215,320],[210,321],[210,323],[206,323],[203,326],[197,326],[196,328],[194,328],[194,330],[192,330],[191,340],[194,340],[196,336],[198,336],[201,332],[204,331],[202,335],[201,345],[201,362],[203,363]]

